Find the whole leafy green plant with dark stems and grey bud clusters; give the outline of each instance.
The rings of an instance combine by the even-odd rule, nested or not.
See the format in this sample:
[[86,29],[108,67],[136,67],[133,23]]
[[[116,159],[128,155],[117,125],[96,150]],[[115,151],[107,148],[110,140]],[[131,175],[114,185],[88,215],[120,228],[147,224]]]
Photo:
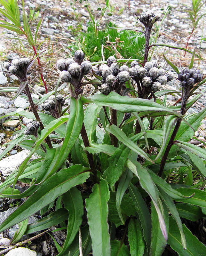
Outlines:
[[[206,109],[186,112],[201,97],[195,90],[204,85],[205,78],[191,65],[180,72],[172,64],[181,90],[165,88],[174,75],[157,60],[147,61],[148,37],[158,19],[152,12],[139,17],[147,30],[144,60],[110,56],[107,61],[90,63],[78,50],[74,58],[57,61],[55,91],[35,103],[30,102],[27,87],[29,61],[24,69],[20,69],[21,58],[5,65],[26,82],[20,86],[25,86],[21,93],[33,111],[9,115],[34,121],[21,124],[19,136],[0,155],[16,144],[31,151],[0,185],[4,197],[27,197],[0,225],[0,232],[20,223],[16,234],[20,239],[52,226],[60,228],[66,238],[60,245],[55,241],[59,256],[206,255],[204,239],[188,228],[190,222],[206,217],[206,192],[202,190],[206,151],[188,143]],[[68,112],[60,94],[65,83]],[[87,84],[93,84],[97,92],[85,97]],[[3,87],[0,91],[13,89],[20,90]],[[170,93],[181,97],[181,105],[168,106],[166,95]],[[51,148],[44,143],[46,138]],[[33,154],[40,158],[28,164]],[[18,194],[14,185],[25,178],[32,179],[30,187]],[[28,225],[28,217],[38,211],[44,216]],[[55,232],[52,236],[55,239]]]

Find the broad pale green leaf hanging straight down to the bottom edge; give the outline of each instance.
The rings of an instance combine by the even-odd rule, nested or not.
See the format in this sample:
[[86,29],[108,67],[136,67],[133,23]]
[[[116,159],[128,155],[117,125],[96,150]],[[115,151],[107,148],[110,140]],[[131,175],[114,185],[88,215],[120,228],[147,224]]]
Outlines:
[[85,199],[93,256],[110,255],[108,200],[109,188],[103,179],[94,184],[90,198]]

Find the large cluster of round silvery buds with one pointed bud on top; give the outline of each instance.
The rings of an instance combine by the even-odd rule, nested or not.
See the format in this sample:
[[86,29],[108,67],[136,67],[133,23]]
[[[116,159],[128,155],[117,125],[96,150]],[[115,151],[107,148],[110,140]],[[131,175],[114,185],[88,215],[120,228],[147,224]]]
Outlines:
[[75,94],[82,91],[79,90],[82,78],[90,73],[91,62],[84,60],[84,53],[82,50],[77,50],[74,54],[74,59],[58,60],[57,68],[60,70],[59,78],[62,82],[70,82],[74,89],[73,91],[70,91],[71,96],[75,96]]

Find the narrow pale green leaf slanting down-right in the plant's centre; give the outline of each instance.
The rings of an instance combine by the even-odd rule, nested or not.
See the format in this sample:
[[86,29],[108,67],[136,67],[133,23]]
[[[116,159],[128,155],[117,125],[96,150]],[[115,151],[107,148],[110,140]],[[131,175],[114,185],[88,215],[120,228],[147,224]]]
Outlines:
[[109,125],[108,124],[107,127],[106,127],[106,131],[115,135],[115,137],[118,140],[120,140],[125,146],[130,148],[132,151],[134,151],[138,155],[142,156],[143,158],[145,158],[149,162],[153,163],[153,161],[147,156],[147,154],[141,148],[139,148],[130,138],[128,138],[127,135],[120,128],[118,128],[116,125],[114,125],[114,124]]

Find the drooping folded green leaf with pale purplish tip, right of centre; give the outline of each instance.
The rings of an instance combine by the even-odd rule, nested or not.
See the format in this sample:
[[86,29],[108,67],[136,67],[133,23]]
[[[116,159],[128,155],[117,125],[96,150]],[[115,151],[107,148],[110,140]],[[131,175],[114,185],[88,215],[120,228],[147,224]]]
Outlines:
[[152,199],[153,204],[155,205],[155,209],[158,214],[158,220],[160,223],[160,228],[162,230],[162,234],[164,236],[164,239],[167,241],[167,229],[164,222],[164,218],[162,216],[162,213],[160,211],[160,208],[158,206],[159,202],[159,196],[157,194],[157,188],[151,179],[149,173],[142,167],[142,165],[139,162],[136,162],[135,164],[131,160],[127,160],[127,167],[139,178],[139,182],[141,187],[147,192],[147,194]]

